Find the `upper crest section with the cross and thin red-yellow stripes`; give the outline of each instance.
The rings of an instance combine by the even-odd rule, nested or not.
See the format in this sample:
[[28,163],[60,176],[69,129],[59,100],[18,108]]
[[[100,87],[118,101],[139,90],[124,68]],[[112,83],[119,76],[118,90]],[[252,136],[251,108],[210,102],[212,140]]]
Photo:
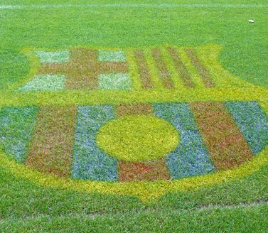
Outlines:
[[252,87],[218,64],[220,48],[215,45],[128,50],[80,47],[25,53],[33,61],[33,71],[23,84],[14,85],[24,92]]

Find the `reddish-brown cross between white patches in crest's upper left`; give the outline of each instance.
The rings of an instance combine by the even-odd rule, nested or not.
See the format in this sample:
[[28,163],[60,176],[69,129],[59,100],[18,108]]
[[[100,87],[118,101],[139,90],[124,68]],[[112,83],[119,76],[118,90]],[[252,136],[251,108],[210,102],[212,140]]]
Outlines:
[[[100,75],[127,74],[127,63],[114,58],[110,51],[106,57],[98,55],[97,50],[78,48],[70,51],[70,62],[68,63],[43,63],[40,74],[57,74],[67,77],[66,88],[68,90],[95,90],[103,81],[98,81]],[[115,52],[114,52],[115,53]],[[124,54],[123,54],[124,55]],[[123,56],[121,54],[121,56]],[[124,59],[123,59],[124,60]],[[118,62],[120,61],[120,62]],[[129,80],[129,77],[127,77]],[[107,88],[106,88],[107,89]]]

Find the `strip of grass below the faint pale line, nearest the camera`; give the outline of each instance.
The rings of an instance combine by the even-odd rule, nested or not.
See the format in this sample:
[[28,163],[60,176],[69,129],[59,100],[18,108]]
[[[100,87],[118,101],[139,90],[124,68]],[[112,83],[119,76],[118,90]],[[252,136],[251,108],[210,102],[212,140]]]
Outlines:
[[67,215],[3,221],[0,229],[31,232],[265,232],[267,205],[210,207],[189,212],[128,212],[126,215]]

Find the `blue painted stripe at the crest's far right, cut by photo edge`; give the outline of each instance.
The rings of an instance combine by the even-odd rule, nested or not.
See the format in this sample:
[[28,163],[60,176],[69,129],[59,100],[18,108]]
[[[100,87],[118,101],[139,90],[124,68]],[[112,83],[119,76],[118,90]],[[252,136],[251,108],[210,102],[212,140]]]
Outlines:
[[226,102],[254,154],[268,145],[268,116],[257,102]]

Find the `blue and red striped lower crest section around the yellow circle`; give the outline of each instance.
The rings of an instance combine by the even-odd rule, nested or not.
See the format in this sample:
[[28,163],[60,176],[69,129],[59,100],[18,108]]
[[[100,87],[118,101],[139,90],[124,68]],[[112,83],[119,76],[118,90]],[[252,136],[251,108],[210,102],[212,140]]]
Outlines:
[[[115,119],[136,116],[158,117],[171,124],[178,131],[176,148],[162,158],[144,157],[141,161],[125,161],[104,152],[97,139],[102,127]],[[251,123],[252,119],[257,120]],[[262,150],[267,146],[267,123],[267,114],[256,102],[138,103],[39,110],[5,107],[0,111],[0,146],[16,161],[64,178],[172,183],[252,160],[251,148]]]

